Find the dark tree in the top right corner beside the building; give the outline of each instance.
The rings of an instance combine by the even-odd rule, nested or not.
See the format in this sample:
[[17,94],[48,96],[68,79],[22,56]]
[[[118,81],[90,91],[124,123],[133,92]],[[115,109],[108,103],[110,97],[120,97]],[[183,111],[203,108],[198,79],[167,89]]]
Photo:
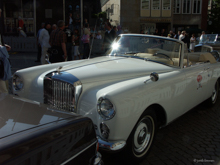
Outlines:
[[211,10],[208,14],[208,30],[220,34],[220,0],[213,0]]

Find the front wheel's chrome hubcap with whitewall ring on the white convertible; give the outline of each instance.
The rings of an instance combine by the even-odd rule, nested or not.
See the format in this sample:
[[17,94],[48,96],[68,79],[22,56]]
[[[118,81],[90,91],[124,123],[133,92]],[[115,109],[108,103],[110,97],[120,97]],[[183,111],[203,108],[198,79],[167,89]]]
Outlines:
[[134,151],[137,154],[143,152],[152,142],[154,134],[154,123],[150,116],[143,118],[134,133]]

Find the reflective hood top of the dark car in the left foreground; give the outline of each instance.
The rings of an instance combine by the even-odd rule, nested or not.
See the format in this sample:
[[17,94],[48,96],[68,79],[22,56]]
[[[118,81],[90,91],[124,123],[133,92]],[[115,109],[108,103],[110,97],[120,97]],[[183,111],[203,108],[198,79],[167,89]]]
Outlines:
[[77,114],[52,111],[38,102],[6,94],[0,94],[0,105],[0,139],[80,118]]

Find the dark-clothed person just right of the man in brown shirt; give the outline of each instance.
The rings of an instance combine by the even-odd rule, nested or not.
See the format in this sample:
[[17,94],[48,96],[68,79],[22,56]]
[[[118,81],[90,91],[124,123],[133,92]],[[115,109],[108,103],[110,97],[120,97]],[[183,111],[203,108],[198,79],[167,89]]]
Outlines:
[[66,22],[66,27],[63,30],[66,33],[66,51],[67,51],[67,60],[72,61],[72,46],[73,46],[73,41],[74,41],[74,36],[73,36],[73,31],[69,28],[69,22]]

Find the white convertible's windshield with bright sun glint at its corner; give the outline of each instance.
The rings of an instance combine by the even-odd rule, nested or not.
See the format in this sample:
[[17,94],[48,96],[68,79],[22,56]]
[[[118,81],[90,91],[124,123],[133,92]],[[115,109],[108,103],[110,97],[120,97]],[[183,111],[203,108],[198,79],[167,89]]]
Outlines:
[[181,44],[163,37],[122,35],[106,55],[145,59],[179,67]]

